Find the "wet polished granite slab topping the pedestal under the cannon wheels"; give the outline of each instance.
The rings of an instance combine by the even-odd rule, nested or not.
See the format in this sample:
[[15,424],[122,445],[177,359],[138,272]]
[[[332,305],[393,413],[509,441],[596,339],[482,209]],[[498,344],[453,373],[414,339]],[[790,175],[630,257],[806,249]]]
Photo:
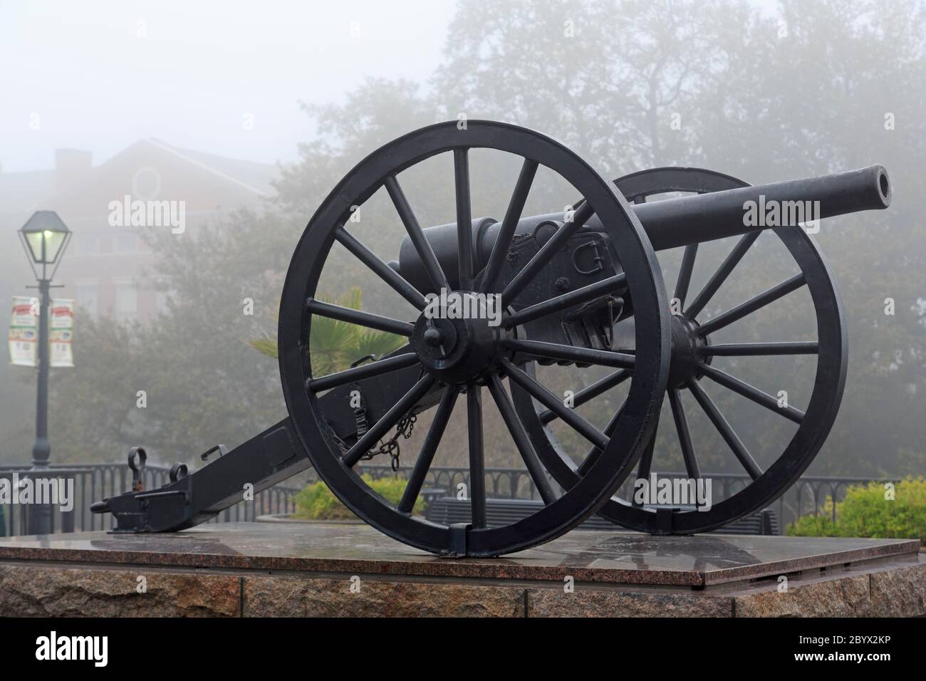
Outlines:
[[166,535],[9,537],[0,540],[0,561],[555,581],[571,576],[577,582],[710,586],[910,556],[919,546],[905,539],[578,531],[501,558],[446,559],[411,549],[367,525],[222,523]]

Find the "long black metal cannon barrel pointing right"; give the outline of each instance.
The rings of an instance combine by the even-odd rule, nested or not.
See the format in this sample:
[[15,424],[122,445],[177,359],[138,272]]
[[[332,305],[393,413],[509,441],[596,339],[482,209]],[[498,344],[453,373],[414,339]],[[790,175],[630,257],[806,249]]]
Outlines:
[[[891,183],[887,170],[873,165],[803,180],[758,184],[724,192],[682,196],[651,203],[633,204],[656,250],[688,246],[725,236],[756,232],[832,218],[861,210],[878,210],[891,204]],[[564,219],[562,212],[522,218],[519,234],[533,233],[544,222],[550,232]],[[585,223],[590,230],[602,229],[593,216]],[[491,218],[472,221],[476,248],[476,271],[482,270],[492,252],[500,224]],[[451,286],[457,286],[457,226],[429,227],[424,233]],[[419,290],[430,291],[427,273],[418,253],[406,237],[394,267]]]

